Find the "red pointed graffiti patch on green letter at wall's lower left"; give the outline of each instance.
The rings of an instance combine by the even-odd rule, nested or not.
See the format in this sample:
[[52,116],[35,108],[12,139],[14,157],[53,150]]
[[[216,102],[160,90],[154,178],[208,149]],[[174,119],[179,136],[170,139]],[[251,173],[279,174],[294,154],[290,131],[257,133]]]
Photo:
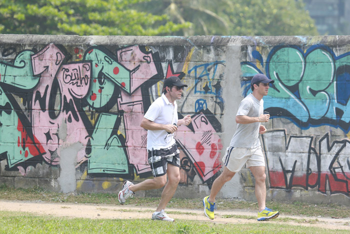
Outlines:
[[[45,150],[43,149],[43,147],[41,146],[40,142],[36,139],[35,136],[33,136],[33,139],[31,139],[26,130],[24,129],[22,122],[20,121],[20,119],[18,119],[18,125],[17,125],[17,130],[18,132],[20,132],[20,137],[18,136],[18,139],[22,139],[22,142],[20,142],[20,145],[23,147],[23,141],[25,141],[25,147],[28,148],[29,153],[32,156],[37,156],[37,155],[42,155],[45,153]],[[33,142],[34,140],[34,142]],[[20,152],[22,153],[22,152]],[[28,156],[28,152],[26,151],[26,156]]]

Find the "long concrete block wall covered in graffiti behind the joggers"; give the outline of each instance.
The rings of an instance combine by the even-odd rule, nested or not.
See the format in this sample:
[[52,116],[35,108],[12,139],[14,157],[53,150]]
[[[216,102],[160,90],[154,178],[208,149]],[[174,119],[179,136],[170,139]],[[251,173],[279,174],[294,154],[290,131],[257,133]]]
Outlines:
[[[0,35],[0,52],[0,184],[117,192],[151,177],[139,124],[175,75],[188,85],[178,113],[192,116],[176,135],[175,197],[203,197],[263,73],[275,80],[261,136],[267,199],[350,204],[350,37]],[[219,196],[254,201],[253,185],[244,168]]]

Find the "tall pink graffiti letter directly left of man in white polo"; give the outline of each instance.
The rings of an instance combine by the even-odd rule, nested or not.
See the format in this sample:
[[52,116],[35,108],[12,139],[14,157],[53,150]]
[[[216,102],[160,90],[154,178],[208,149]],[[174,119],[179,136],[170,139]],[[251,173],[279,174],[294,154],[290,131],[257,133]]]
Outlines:
[[145,148],[147,132],[139,126],[144,115],[142,93],[139,87],[158,74],[152,53],[144,54],[138,46],[117,51],[118,62],[131,71],[130,93],[121,90],[118,109],[124,111],[125,145],[129,162],[137,173],[150,171]]

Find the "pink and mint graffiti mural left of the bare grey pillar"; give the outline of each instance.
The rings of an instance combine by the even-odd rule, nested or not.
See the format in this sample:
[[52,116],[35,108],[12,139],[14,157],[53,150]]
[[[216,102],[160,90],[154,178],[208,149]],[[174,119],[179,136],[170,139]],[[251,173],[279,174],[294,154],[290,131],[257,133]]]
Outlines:
[[151,177],[147,132],[140,122],[161,95],[164,79],[177,76],[188,85],[178,115],[190,114],[193,120],[176,134],[181,184],[193,183],[196,176],[210,187],[221,169],[225,63],[197,63],[198,49],[191,46],[178,49],[177,55],[171,50],[0,45],[2,181],[28,179],[31,186],[35,178],[39,185],[44,181],[65,192],[115,191],[125,179]]

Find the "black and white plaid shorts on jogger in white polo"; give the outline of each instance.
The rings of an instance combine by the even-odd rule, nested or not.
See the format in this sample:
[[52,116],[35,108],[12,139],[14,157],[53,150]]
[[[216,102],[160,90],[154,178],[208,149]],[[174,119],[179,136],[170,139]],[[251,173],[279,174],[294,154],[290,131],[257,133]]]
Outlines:
[[167,164],[180,167],[180,151],[176,144],[165,149],[148,150],[148,164],[154,177],[166,174]]

